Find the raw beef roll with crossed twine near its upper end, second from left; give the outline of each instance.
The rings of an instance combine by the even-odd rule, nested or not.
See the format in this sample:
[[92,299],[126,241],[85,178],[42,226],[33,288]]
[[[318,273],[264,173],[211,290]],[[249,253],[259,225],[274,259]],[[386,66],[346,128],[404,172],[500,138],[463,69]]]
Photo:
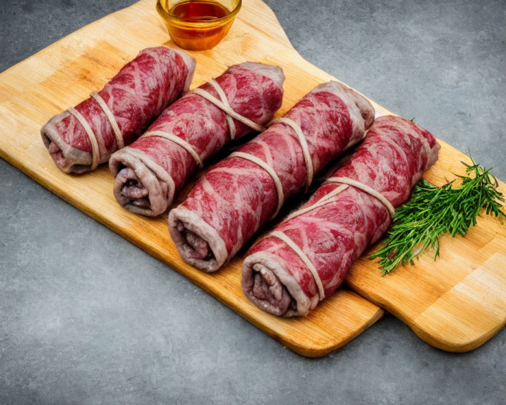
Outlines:
[[208,156],[251,129],[262,131],[281,106],[280,67],[245,62],[168,107],[109,167],[114,195],[125,209],[156,216]]

